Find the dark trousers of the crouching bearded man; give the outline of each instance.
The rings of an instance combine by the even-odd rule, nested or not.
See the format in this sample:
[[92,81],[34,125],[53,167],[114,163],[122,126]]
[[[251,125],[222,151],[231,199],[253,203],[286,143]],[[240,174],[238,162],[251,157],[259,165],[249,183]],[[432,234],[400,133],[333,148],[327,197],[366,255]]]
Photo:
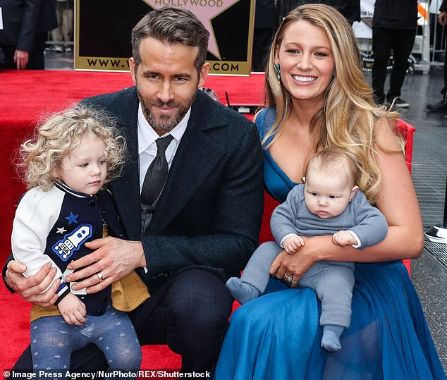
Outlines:
[[[166,280],[129,317],[141,345],[167,344],[181,355],[183,372],[202,372],[217,361],[232,305],[233,299],[221,278],[192,269]],[[71,355],[73,371],[107,367],[96,345],[87,345]],[[29,347],[14,369],[32,369]]]

